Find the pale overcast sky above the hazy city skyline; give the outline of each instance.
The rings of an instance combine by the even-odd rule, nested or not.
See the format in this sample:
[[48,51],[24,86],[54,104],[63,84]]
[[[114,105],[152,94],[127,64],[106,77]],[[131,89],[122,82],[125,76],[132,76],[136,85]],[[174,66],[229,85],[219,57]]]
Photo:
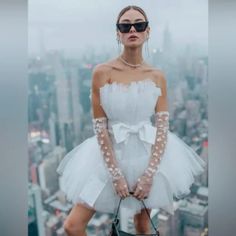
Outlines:
[[148,15],[149,45],[161,47],[162,32],[168,25],[177,44],[207,46],[207,0],[30,0],[29,52],[39,50],[40,32],[46,49],[117,48],[116,18],[131,4],[142,7]]

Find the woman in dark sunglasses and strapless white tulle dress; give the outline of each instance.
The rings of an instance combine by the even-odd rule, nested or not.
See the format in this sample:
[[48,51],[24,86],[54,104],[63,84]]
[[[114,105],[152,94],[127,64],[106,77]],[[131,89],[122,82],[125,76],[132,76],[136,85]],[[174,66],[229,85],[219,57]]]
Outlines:
[[173,214],[173,195],[186,196],[205,166],[168,130],[165,76],[142,56],[150,33],[145,12],[128,6],[116,26],[123,52],[97,65],[92,76],[95,136],[69,152],[58,167],[62,189],[74,203],[64,223],[70,236],[86,235],[93,214],[113,213],[120,197],[124,207],[134,210],[136,232],[150,233],[140,200],[149,213],[163,208]]

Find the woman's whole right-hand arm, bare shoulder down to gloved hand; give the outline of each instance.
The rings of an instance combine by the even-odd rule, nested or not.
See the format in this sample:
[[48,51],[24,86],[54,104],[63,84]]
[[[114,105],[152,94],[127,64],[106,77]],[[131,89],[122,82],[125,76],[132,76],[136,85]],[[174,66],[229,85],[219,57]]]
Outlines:
[[144,174],[138,179],[135,186],[134,196],[138,199],[148,197],[151,190],[153,177],[158,170],[168,138],[169,112],[166,79],[163,74],[161,74],[159,78],[159,81],[161,81],[161,83],[159,83],[159,86],[161,87],[161,96],[158,97],[155,107],[155,126],[157,127],[156,139],[154,145],[152,146],[148,167],[144,171]]

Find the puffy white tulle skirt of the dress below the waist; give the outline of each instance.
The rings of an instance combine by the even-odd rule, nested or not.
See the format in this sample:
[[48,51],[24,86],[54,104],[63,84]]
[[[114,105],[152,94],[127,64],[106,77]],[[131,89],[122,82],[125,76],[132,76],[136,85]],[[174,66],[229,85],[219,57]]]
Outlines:
[[[150,155],[139,151],[140,143],[130,139],[129,152],[114,146],[119,167],[132,190],[148,165]],[[174,133],[168,131],[164,155],[156,172],[149,197],[144,200],[150,209],[162,208],[174,214],[173,196],[183,198],[190,193],[194,177],[203,173],[205,161]],[[114,213],[119,202],[103,161],[96,136],[76,146],[60,162],[61,190],[73,204],[83,203],[99,212]],[[142,204],[134,197],[125,198],[122,207],[140,212]]]

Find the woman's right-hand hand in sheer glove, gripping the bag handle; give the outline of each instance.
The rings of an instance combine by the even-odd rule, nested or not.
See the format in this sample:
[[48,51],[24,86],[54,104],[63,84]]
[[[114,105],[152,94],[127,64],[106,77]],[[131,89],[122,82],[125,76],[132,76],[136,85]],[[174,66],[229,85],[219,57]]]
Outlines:
[[152,187],[152,181],[152,177],[148,177],[146,174],[143,174],[140,178],[138,178],[138,182],[134,187],[133,196],[138,200],[147,198]]

